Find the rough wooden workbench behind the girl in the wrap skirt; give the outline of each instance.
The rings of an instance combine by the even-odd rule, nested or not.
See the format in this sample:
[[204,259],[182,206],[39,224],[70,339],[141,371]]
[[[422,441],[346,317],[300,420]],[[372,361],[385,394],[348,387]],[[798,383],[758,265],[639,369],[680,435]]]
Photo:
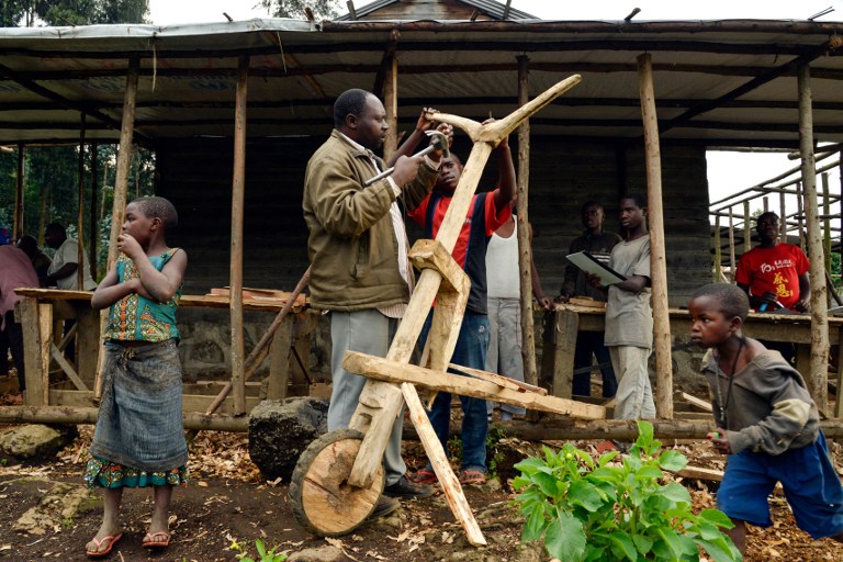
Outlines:
[[[18,289],[25,296],[15,306],[15,314],[23,327],[24,361],[26,367],[26,398],[30,406],[93,406],[93,384],[97,359],[100,350],[100,311],[91,308],[92,293],[87,291],[60,291],[55,289]],[[244,297],[244,310],[278,313],[284,300],[278,297]],[[227,295],[182,295],[182,307],[228,308]],[[306,394],[308,387],[304,373],[292,353],[293,347],[300,357],[310,356],[310,338],[295,337],[294,324],[300,322],[306,303],[304,299],[292,308],[272,340],[269,363],[270,372],[266,386],[247,383],[247,409],[251,409],[263,397],[286,397],[289,389],[294,394]],[[76,369],[64,357],[64,346],[55,334],[60,334],[60,321],[74,318],[77,352]],[[54,327],[55,326],[55,327]],[[50,363],[58,364],[69,382],[56,384],[50,381]],[[225,381],[209,381],[183,385],[184,412],[205,412]],[[292,386],[291,386],[292,383]],[[232,397],[227,397],[218,409],[222,414],[233,412]]]

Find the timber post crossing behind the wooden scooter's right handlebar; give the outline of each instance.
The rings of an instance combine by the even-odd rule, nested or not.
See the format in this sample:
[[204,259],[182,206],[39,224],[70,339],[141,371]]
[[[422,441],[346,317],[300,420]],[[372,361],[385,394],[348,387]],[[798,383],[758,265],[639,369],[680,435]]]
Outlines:
[[[526,55],[518,58],[518,105],[530,99],[529,79],[530,59]],[[530,246],[530,221],[527,214],[528,191],[530,186],[530,120],[518,125],[518,271],[521,280],[521,341],[524,356],[524,380],[528,384],[538,384],[536,372],[536,334],[532,329],[532,247]]]

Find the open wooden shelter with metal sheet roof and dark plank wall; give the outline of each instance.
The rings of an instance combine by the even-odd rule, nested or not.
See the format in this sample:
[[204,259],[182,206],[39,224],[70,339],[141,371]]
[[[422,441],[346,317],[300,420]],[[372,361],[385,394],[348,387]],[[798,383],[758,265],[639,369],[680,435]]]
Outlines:
[[[325,22],[0,30],[0,145],[20,155],[26,144],[78,143],[82,128],[85,143],[120,143],[115,227],[127,148],[156,150],[158,192],[173,200],[188,233],[177,241],[198,248],[188,291],[231,286],[234,413],[246,409],[244,278],[290,286],[306,269],[304,164],[329,131],[333,101],[350,87],[381,95],[400,132],[422,106],[482,121],[582,75],[573,95],[519,134],[519,220],[528,218],[528,200],[541,203],[530,216],[543,228],[537,262],[558,282],[560,233],[576,229],[570,220],[560,226],[561,217],[577,216],[595,192],[614,201],[648,189],[662,416],[672,413],[668,305],[709,278],[708,244],[700,244],[708,240],[707,148],[800,149],[809,256],[823,262],[811,226],[813,147],[843,142],[843,23],[542,21],[488,0],[431,2],[457,19],[398,20],[395,3]],[[19,210],[22,181],[21,170]],[[260,220],[249,222],[256,211]],[[299,228],[266,232],[283,228],[279,222]],[[812,390],[824,403],[825,285],[820,270],[812,277]]]

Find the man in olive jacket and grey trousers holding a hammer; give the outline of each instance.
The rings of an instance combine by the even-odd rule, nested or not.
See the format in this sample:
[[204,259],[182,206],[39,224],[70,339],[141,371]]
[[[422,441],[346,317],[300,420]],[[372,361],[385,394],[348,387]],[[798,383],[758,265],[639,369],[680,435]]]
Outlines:
[[[426,123],[424,127],[432,126]],[[342,369],[345,352],[385,357],[406,310],[413,270],[397,200],[414,209],[432,189],[440,158],[436,153],[430,158],[402,156],[391,177],[364,187],[384,168],[372,154],[389,130],[383,104],[370,92],[348,90],[334,104],[334,127],[307,162],[302,203],[310,229],[311,304],[330,311],[329,431],[348,427],[366,383]],[[430,495],[429,487],[405,476],[402,422],[398,416],[384,453],[384,494]],[[375,514],[396,507],[392,502],[376,506]]]

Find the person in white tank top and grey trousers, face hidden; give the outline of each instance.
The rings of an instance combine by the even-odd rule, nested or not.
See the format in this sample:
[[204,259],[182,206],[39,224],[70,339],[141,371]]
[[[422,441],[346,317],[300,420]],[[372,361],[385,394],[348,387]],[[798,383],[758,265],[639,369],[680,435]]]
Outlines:
[[[510,203],[515,211],[515,198]],[[532,244],[532,232],[530,232]],[[539,305],[550,310],[552,302],[541,290],[541,281],[530,252],[532,294]],[[524,382],[521,357],[521,278],[518,267],[518,222],[515,215],[503,224],[488,240],[486,248],[486,285],[488,307],[488,351],[486,371]],[[495,402],[486,401],[491,418]],[[526,414],[524,406],[501,404],[501,422]]]

